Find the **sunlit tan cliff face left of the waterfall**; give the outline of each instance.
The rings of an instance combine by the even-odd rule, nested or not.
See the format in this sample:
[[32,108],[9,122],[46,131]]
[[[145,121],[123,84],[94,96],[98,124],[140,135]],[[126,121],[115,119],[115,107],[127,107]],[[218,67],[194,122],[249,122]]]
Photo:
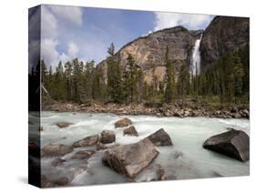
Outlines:
[[[142,67],[145,80],[150,83],[153,78],[153,69],[148,58],[152,58],[155,65],[154,76],[162,80],[165,76],[165,53],[169,46],[169,57],[179,73],[179,67],[189,65],[191,50],[196,39],[200,38],[202,30],[189,31],[183,26],[176,26],[157,31],[148,36],[139,37],[126,46],[123,46],[115,55],[124,69],[128,54],[131,54],[135,63]],[[105,74],[107,72],[106,60],[99,64]]]

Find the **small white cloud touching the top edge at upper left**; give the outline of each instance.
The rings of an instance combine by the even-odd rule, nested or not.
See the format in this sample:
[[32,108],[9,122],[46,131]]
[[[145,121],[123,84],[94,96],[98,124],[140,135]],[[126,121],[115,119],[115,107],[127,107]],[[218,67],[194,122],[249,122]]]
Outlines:
[[82,8],[77,6],[60,5],[51,5],[49,7],[53,14],[58,17],[58,19],[77,26],[81,26],[83,24]]

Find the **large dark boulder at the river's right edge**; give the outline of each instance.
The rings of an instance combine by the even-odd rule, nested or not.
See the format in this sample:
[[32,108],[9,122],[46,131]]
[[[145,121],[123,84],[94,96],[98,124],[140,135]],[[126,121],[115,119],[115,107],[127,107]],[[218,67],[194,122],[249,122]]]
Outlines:
[[231,129],[208,138],[203,147],[240,161],[247,161],[250,157],[249,142],[250,139],[245,132]]

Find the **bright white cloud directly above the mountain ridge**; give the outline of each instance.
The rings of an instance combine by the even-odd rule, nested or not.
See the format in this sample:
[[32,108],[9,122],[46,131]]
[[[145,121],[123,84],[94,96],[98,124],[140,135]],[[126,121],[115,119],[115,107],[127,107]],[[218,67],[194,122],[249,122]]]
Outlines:
[[154,14],[154,31],[176,25],[184,25],[189,29],[200,29],[203,25],[208,25],[212,19],[212,15],[173,14],[163,12],[155,12]]

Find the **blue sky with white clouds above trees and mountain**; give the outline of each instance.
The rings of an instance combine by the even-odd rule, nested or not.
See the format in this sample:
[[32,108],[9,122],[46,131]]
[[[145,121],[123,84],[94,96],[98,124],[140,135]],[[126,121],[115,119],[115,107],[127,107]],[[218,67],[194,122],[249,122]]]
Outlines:
[[[41,34],[38,21],[41,15]],[[189,15],[152,11],[104,9],[65,5],[41,5],[30,9],[29,56],[30,66],[36,53],[47,66],[56,67],[59,61],[78,58],[95,60],[96,64],[107,56],[113,42],[116,51],[139,36],[163,28],[183,25],[188,29],[205,29],[213,15]],[[39,36],[40,35],[40,36]],[[39,43],[40,42],[40,46]]]

